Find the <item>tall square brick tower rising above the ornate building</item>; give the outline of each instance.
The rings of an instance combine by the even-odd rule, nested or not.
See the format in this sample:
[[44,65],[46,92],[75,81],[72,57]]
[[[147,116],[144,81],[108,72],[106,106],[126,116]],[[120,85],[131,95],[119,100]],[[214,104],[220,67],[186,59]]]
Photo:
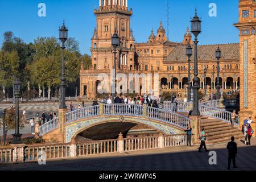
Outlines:
[[115,27],[121,40],[118,48],[117,68],[128,69],[134,65],[134,37],[130,28],[132,10],[128,10],[128,0],[100,0],[98,10],[94,10],[97,27],[92,37],[92,69],[112,69],[113,52],[111,38]]

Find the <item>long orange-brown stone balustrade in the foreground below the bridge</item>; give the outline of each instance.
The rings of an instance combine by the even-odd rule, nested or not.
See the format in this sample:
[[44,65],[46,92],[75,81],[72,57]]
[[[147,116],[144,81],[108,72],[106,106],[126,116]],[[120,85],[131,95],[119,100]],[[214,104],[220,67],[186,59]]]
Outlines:
[[160,133],[154,137],[123,138],[97,140],[88,142],[20,144],[10,147],[0,147],[0,164],[38,162],[42,159],[69,159],[78,156],[114,154],[130,151],[151,150],[184,146],[186,135],[166,135]]

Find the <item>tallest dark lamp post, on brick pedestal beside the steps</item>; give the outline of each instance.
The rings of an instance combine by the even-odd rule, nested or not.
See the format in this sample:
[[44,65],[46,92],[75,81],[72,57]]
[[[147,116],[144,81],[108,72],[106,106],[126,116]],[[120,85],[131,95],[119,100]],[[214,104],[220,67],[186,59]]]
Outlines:
[[195,16],[191,20],[191,32],[195,36],[195,40],[193,41],[195,44],[195,59],[194,59],[194,78],[193,78],[193,109],[191,115],[200,115],[199,111],[199,78],[198,76],[198,64],[197,64],[197,44],[199,41],[197,40],[197,36],[201,33],[201,20],[197,16],[197,11],[195,11]]

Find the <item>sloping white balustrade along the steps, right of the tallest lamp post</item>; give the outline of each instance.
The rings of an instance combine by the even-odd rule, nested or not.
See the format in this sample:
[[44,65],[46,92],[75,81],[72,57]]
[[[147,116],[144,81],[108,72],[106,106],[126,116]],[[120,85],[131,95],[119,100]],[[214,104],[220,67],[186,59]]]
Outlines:
[[[232,117],[232,113],[223,109],[218,109],[218,108],[214,108],[214,107],[210,107],[210,106],[205,106],[205,105],[200,105],[199,106],[200,112],[202,115],[207,115],[209,117],[213,117],[213,118],[217,118],[217,119],[221,119],[222,121],[228,122],[230,123],[231,117]],[[239,117],[237,117],[235,119],[234,125],[238,125],[239,126]]]

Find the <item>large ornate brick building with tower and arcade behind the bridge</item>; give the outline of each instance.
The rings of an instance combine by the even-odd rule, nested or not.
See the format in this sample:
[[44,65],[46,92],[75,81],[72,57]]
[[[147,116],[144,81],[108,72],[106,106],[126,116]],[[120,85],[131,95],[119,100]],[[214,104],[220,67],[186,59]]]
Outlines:
[[[135,43],[133,31],[130,27],[132,9],[128,9],[127,0],[100,0],[100,6],[94,10],[97,27],[92,37],[92,67],[80,71],[80,97],[93,99],[97,94],[97,85],[102,82],[97,77],[100,73],[110,75],[113,69],[113,48],[111,37],[117,27],[121,44],[117,50],[117,73],[155,73],[159,74],[157,86],[160,93],[154,93],[156,97],[163,91],[175,91],[186,96],[188,82],[188,62],[185,49],[188,43],[193,44],[192,36],[187,28],[180,43],[174,43],[167,39],[162,22],[154,34],[154,30],[148,32],[148,40],[145,43]],[[238,90],[240,88],[240,45],[220,44],[222,51],[220,84],[225,91]],[[192,46],[193,47],[193,46]],[[215,51],[217,45],[199,46],[199,78],[201,89],[204,89],[204,67],[207,71],[208,93],[216,92],[217,60]],[[192,56],[193,57],[193,56]],[[193,75],[193,59],[191,62],[191,75]],[[242,68],[241,68],[242,69]],[[193,77],[193,76],[192,76]],[[192,80],[192,79],[191,79]],[[142,85],[142,81],[140,82]],[[129,85],[129,83],[128,83]],[[109,85],[110,88],[110,78]],[[151,88],[154,88],[152,85]],[[147,94],[150,89],[147,89]],[[142,94],[142,93],[141,93]]]

